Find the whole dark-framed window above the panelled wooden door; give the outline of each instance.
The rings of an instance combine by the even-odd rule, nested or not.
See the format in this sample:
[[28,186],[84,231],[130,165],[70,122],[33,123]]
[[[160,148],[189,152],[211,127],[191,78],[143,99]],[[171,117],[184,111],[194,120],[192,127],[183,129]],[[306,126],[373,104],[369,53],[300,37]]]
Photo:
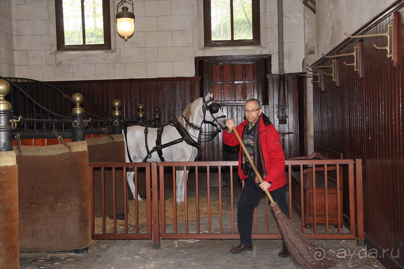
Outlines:
[[258,45],[259,0],[204,0],[205,46]]

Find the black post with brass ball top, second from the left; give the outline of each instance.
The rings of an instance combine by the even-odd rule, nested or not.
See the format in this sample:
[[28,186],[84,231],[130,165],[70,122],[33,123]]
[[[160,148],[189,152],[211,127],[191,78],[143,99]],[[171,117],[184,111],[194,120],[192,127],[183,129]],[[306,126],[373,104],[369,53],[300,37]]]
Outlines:
[[80,106],[84,101],[84,97],[81,93],[75,93],[72,95],[72,100],[76,104],[76,107],[72,110],[72,142],[84,141],[84,131],[87,122],[89,122],[84,119],[84,109]]

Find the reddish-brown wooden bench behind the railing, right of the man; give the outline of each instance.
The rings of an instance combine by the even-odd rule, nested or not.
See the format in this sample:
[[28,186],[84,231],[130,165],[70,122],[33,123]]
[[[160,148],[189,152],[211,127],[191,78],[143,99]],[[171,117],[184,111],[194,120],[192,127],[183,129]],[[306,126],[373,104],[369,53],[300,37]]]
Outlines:
[[[293,157],[289,160],[297,159],[342,159],[343,154],[323,147],[316,147],[315,152],[309,156]],[[326,202],[325,202],[325,167],[317,165],[316,169],[316,224],[325,224]],[[342,167],[339,167],[339,219],[343,223],[342,214]],[[291,173],[291,196],[292,206],[301,216],[301,184],[300,168],[294,167]],[[327,204],[328,204],[328,223],[338,224],[338,206],[337,206],[337,167],[336,165],[327,165]],[[307,228],[314,223],[314,202],[313,202],[313,168],[304,168],[303,170],[303,199],[304,199],[304,223]]]

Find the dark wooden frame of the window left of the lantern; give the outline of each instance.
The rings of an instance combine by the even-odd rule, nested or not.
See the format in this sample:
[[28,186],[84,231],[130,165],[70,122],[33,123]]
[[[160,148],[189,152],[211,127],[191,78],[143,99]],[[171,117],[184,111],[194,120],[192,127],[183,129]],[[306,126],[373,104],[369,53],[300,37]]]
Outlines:
[[[83,3],[84,0],[81,0]],[[65,31],[63,22],[63,0],[55,0],[56,12],[56,41],[58,50],[99,50],[111,49],[111,20],[110,20],[110,0],[103,0],[103,24],[104,24],[104,44],[85,44],[85,27],[83,27],[82,45],[65,45]],[[83,6],[82,6],[83,12]],[[82,18],[84,24],[84,18]]]

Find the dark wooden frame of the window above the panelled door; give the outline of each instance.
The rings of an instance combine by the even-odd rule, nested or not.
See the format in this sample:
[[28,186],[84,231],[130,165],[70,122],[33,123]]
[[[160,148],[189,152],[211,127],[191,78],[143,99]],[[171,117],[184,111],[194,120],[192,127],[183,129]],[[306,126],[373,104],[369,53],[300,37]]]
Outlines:
[[[230,0],[230,8],[233,10],[233,0]],[[260,45],[260,0],[251,0],[252,4],[252,39],[234,40],[233,13],[231,13],[231,39],[230,40],[212,40],[212,14],[211,0],[204,0],[204,41],[205,46],[242,46],[242,45]]]

